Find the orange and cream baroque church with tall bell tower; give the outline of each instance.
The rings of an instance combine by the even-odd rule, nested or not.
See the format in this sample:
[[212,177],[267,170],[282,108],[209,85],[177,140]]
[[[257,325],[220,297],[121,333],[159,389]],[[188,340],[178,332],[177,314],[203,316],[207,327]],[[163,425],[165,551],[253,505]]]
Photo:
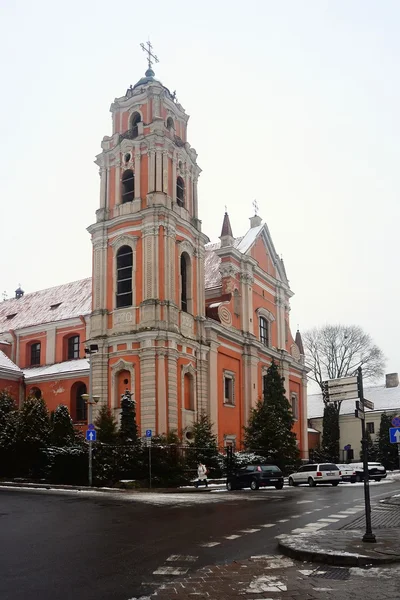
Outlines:
[[241,237],[227,212],[219,242],[202,231],[189,116],[156,79],[148,46],[145,76],[112,103],[95,161],[92,277],[18,288],[0,303],[0,390],[19,403],[43,397],[50,410],[65,404],[84,427],[82,394],[99,399],[94,414],[108,403],[118,418],[128,389],[142,435],[190,440],[204,411],[219,445],[240,448],[275,360],[306,456],[307,369],[283,261],[257,210]]

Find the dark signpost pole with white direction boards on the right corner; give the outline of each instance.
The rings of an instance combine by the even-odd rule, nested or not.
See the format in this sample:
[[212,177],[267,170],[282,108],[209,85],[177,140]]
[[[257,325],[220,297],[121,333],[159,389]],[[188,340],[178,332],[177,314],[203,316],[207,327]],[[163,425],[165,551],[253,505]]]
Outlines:
[[[369,473],[368,473],[368,442],[365,428],[365,408],[373,410],[374,403],[364,398],[364,387],[362,368],[358,367],[357,375],[353,377],[343,377],[342,379],[330,379],[322,384],[322,397],[324,402],[341,402],[342,400],[356,400],[355,416],[361,421],[361,439],[363,448],[363,470],[364,470],[364,501],[365,501],[365,534],[363,542],[376,542],[376,537],[372,533],[371,524],[371,498],[369,494]],[[398,436],[400,439],[400,419]],[[390,440],[392,441],[392,440]],[[398,442],[399,461],[400,461],[400,441]]]

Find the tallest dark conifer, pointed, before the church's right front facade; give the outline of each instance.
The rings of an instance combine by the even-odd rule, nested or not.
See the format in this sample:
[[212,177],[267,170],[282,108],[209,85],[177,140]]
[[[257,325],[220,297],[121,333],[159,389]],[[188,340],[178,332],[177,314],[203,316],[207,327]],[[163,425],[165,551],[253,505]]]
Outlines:
[[281,468],[293,465],[299,456],[293,424],[283,378],[273,361],[265,378],[263,399],[252,409],[249,425],[245,427],[246,449],[265,456]]

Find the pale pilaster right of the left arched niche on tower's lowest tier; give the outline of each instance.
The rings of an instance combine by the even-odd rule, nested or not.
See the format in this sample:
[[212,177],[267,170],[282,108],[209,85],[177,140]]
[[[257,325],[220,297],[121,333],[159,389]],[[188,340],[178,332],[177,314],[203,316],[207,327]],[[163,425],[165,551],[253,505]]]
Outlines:
[[142,435],[146,429],[156,431],[156,351],[141,348],[140,354],[140,425]]

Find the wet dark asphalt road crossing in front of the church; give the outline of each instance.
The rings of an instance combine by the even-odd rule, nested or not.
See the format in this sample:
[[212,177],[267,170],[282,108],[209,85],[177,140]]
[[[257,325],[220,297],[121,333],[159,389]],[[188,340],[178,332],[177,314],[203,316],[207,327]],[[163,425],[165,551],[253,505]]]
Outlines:
[[[372,483],[371,498],[399,490],[400,481]],[[0,598],[140,598],[176,577],[171,570],[275,553],[277,535],[321,518],[343,526],[362,513],[331,517],[362,503],[361,485],[134,496],[0,489]]]

